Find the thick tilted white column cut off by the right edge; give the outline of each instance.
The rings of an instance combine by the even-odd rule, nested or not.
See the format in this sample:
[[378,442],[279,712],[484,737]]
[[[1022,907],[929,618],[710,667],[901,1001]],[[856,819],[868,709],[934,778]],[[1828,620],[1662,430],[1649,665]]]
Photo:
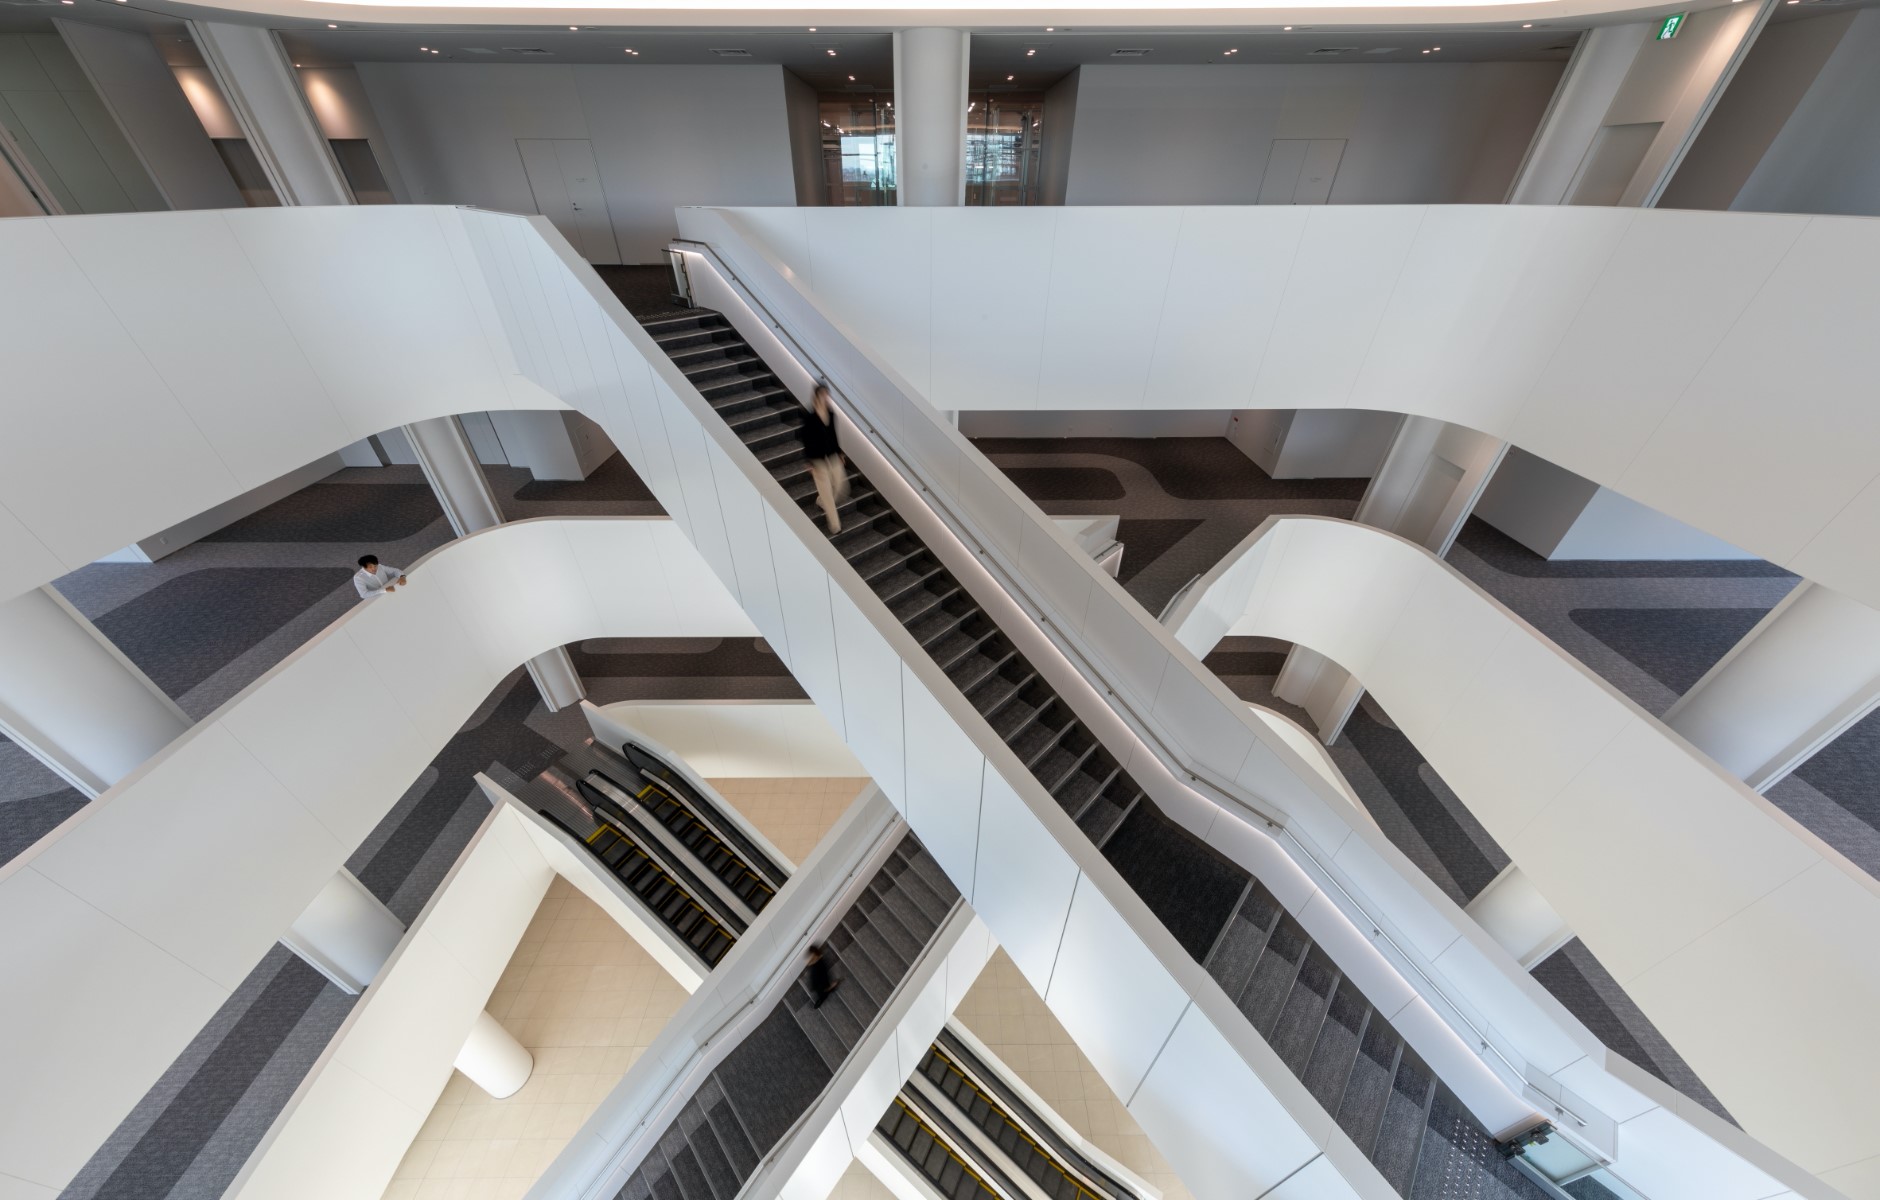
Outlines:
[[1758,792],[1880,705],[1880,611],[1803,581],[1664,715]]

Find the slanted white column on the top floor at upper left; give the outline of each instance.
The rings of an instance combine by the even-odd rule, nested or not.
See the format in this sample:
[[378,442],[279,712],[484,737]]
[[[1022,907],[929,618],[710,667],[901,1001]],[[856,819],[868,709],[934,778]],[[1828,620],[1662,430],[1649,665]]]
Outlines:
[[352,188],[333,158],[314,111],[293,77],[293,62],[269,28],[190,21],[248,147],[284,205],[350,205]]

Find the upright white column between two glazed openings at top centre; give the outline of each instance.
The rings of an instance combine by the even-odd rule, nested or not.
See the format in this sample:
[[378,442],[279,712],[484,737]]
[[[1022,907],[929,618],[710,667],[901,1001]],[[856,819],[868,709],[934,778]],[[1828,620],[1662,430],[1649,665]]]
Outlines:
[[901,205],[966,203],[964,30],[895,34],[895,196]]

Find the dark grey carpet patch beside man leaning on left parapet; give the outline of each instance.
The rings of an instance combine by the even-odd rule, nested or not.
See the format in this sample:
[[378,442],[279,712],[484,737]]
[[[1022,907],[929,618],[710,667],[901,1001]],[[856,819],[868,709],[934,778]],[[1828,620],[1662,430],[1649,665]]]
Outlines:
[[94,624],[156,687],[182,696],[350,581],[344,566],[207,566],[160,583]]

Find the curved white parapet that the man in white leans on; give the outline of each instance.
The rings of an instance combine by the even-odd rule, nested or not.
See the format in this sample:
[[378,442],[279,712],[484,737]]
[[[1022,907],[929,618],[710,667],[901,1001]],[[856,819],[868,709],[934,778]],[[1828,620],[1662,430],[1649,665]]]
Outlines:
[[756,630],[664,519],[447,542],[0,867],[0,1174],[62,1187],[517,664]]

